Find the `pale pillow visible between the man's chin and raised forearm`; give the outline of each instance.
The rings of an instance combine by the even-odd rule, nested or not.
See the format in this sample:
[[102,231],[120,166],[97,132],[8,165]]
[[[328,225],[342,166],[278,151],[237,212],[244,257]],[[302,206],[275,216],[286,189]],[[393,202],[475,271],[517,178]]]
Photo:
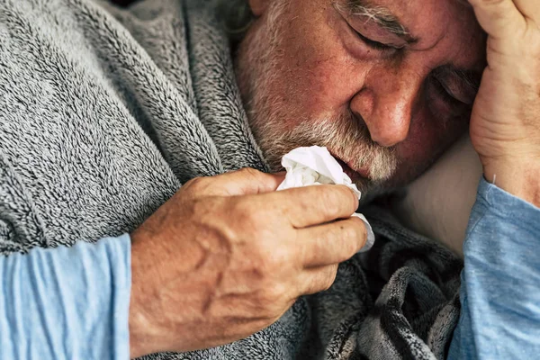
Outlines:
[[465,230],[481,176],[480,159],[467,136],[407,186],[392,210],[406,227],[463,257]]

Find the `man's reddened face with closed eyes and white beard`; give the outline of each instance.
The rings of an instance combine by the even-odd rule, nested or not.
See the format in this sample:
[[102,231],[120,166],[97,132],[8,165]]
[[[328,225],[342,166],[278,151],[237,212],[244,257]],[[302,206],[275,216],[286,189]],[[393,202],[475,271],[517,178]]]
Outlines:
[[329,148],[364,192],[420,175],[467,129],[485,38],[460,0],[251,0],[238,84],[278,170]]

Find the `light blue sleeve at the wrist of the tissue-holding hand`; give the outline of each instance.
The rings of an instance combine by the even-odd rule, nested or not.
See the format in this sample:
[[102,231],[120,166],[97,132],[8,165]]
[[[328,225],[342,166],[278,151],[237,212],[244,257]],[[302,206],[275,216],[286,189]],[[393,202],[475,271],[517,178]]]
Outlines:
[[0,257],[0,359],[129,359],[130,236]]

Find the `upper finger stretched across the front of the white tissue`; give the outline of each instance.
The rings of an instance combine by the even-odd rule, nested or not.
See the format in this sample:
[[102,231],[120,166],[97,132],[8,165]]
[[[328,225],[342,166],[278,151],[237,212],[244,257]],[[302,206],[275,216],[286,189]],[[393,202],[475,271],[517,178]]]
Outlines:
[[294,228],[346,219],[358,208],[355,193],[344,185],[313,185],[266,195],[280,204]]

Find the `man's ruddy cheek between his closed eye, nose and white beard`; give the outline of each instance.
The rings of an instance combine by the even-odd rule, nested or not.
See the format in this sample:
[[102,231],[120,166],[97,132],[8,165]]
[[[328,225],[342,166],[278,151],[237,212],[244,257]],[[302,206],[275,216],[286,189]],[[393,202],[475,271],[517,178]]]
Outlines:
[[[284,41],[282,84],[287,102],[310,116],[342,110],[359,90],[363,74],[345,49],[331,15],[293,20]],[[321,25],[322,24],[322,25]]]

